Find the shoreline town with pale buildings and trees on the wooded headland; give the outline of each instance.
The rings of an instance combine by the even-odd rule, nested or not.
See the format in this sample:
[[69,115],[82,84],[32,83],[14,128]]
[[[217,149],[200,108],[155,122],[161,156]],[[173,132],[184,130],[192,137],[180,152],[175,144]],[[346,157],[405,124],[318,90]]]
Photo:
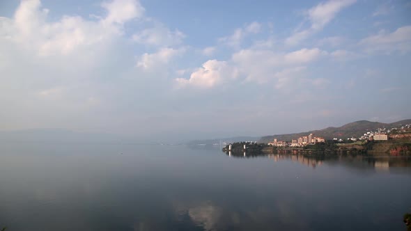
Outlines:
[[[388,145],[382,145],[387,143]],[[300,136],[291,141],[279,141],[272,139],[268,143],[256,141],[243,141],[237,143],[224,143],[224,152],[263,152],[273,153],[282,151],[349,151],[349,152],[388,152],[390,154],[411,153],[411,124],[390,129],[378,128],[374,131],[364,131],[360,137],[332,138],[326,140],[324,137],[313,133]],[[272,147],[272,148],[270,148]]]

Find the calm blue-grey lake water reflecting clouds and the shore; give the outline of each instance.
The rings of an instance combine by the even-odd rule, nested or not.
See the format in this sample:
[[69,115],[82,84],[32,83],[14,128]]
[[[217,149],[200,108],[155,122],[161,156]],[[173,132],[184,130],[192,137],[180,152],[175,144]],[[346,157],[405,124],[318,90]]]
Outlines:
[[406,230],[406,212],[410,159],[0,145],[0,229],[7,231]]

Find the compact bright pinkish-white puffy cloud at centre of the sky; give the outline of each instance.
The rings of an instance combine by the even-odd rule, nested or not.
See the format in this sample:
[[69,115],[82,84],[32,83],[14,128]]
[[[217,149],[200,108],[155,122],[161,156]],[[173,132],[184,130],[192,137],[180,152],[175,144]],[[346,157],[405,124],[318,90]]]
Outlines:
[[189,79],[178,78],[178,86],[194,86],[196,88],[212,88],[229,79],[238,77],[238,71],[224,61],[209,60],[192,72]]

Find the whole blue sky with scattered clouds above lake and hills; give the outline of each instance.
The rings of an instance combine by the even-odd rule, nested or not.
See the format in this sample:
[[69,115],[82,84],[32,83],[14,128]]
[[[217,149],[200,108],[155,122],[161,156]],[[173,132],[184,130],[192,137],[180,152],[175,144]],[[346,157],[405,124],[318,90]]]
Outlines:
[[153,140],[411,118],[411,1],[0,1],[0,130]]

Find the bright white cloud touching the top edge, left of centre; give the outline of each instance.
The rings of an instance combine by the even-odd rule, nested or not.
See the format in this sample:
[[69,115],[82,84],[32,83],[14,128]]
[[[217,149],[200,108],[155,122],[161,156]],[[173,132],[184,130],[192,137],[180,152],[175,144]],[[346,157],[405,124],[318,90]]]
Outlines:
[[145,9],[137,0],[114,0],[102,3],[107,10],[104,22],[108,24],[123,24],[130,19],[143,17]]

